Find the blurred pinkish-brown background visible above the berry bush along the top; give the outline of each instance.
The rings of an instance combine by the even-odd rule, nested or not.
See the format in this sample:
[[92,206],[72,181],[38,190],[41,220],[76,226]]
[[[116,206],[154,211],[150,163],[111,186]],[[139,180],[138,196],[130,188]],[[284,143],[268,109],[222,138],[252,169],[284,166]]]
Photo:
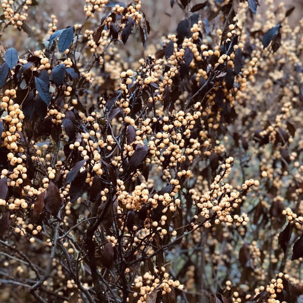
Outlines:
[[[7,47],[14,46],[18,51],[25,51],[26,48],[33,50],[38,42],[41,42],[43,38],[48,38],[45,33],[47,32],[48,23],[51,21],[50,16],[52,14],[56,15],[58,19],[58,29],[65,28],[76,23],[85,22],[86,16],[83,11],[85,0],[37,0],[37,2],[40,5],[30,7],[28,11],[29,18],[27,21],[27,24],[34,29],[34,39],[29,38],[24,32],[16,31],[10,27],[6,29],[5,33],[0,37],[0,44],[5,44]],[[121,0],[120,2],[128,4],[130,1]],[[146,19],[151,25],[147,43],[161,43],[160,38],[163,34],[166,35],[175,32],[177,24],[185,17],[184,12],[176,2],[177,1],[175,0],[175,5],[172,9],[170,6],[170,0],[142,0],[142,11],[145,13]],[[191,1],[193,5],[202,2],[204,2],[204,0]],[[264,13],[266,10],[264,2],[264,0],[259,0],[259,14]],[[303,15],[303,0],[285,0],[283,3],[289,7],[295,6],[295,10],[289,19],[289,23],[290,25],[296,25]],[[274,4],[278,8],[278,6],[282,4],[282,1],[274,0]],[[97,22],[104,14],[99,13],[95,15],[95,22]],[[91,21],[89,20],[86,22],[86,27],[94,28],[94,25],[91,24]],[[43,30],[41,34],[39,34],[41,29]],[[139,39],[139,36],[136,36],[136,38]],[[141,43],[139,45],[141,46]],[[147,46],[148,44],[145,45],[145,47]]]

